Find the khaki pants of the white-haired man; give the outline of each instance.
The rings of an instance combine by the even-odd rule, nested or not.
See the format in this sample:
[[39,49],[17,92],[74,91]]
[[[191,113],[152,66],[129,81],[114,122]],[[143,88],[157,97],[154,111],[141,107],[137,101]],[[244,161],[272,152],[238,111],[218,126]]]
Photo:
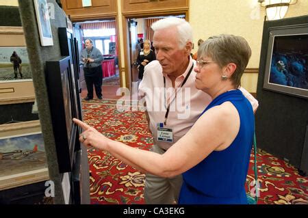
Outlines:
[[[164,150],[153,145],[151,151],[164,154]],[[183,182],[182,175],[172,178],[162,178],[146,174],[144,200],[146,204],[174,204],[179,200],[179,192]]]

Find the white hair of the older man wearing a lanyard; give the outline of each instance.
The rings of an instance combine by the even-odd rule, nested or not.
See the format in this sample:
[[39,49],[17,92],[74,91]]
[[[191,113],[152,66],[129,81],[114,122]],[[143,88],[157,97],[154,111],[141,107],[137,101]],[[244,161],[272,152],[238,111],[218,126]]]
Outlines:
[[151,25],[151,28],[154,32],[159,29],[167,29],[170,27],[177,27],[179,38],[178,44],[180,49],[183,49],[187,42],[192,42],[192,27],[187,21],[182,18],[169,16],[167,18],[156,21]]

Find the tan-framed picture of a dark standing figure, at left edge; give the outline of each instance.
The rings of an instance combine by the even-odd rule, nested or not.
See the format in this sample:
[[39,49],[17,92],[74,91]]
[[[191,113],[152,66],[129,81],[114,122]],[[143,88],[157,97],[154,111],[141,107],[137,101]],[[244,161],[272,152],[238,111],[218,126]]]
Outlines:
[[[11,62],[14,51],[21,63],[16,56]],[[0,26],[0,105],[29,103],[34,100],[34,85],[23,27]]]

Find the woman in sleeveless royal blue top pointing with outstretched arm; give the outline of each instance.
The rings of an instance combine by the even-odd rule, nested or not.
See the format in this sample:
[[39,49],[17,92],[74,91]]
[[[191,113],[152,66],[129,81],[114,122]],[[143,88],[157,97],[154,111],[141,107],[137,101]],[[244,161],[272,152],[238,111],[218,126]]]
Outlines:
[[194,126],[164,154],[131,148],[84,128],[79,140],[157,176],[183,174],[179,204],[247,204],[248,172],[255,120],[251,103],[238,89],[251,48],[240,36],[219,35],[198,49],[196,87],[212,102]]

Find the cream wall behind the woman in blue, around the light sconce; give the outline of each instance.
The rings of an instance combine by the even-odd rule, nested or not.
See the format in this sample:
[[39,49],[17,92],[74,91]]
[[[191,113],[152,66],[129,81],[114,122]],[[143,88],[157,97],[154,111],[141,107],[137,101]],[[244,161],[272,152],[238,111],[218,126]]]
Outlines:
[[[190,24],[194,29],[194,51],[199,38],[206,39],[220,33],[240,35],[246,38],[252,49],[247,68],[259,68],[261,38],[265,8],[257,0],[191,0]],[[285,18],[308,14],[308,1],[298,0],[290,5]],[[257,75],[245,74],[242,86],[249,92],[257,90]]]

